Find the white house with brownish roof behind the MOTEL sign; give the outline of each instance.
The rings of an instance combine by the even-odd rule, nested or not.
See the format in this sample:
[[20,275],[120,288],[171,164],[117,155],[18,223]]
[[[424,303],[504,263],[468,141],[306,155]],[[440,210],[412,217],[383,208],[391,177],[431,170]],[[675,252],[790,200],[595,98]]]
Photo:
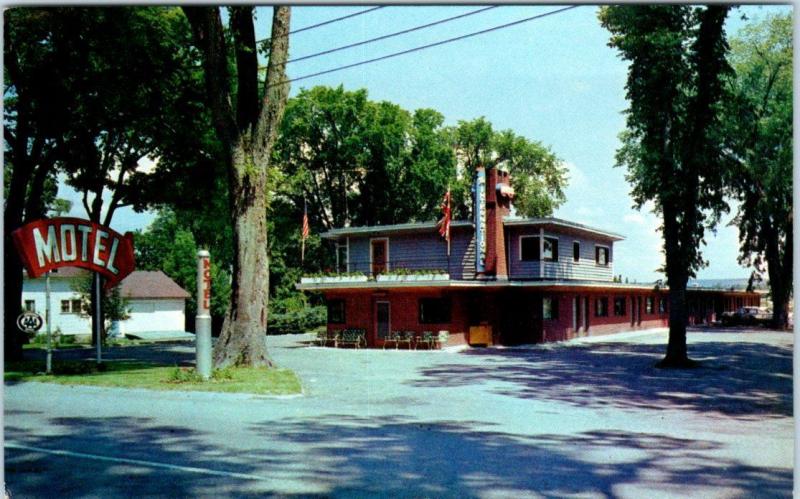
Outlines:
[[[65,335],[91,334],[91,321],[81,310],[79,294],[73,289],[76,279],[87,271],[65,267],[50,273],[50,306],[52,330]],[[166,332],[185,330],[186,298],[183,288],[166,274],[157,271],[135,271],[126,277],[121,294],[128,299],[130,318],[120,323],[119,332]],[[45,318],[45,277],[28,279],[22,287],[22,305],[25,310],[38,312]],[[46,326],[42,327],[44,331]]]

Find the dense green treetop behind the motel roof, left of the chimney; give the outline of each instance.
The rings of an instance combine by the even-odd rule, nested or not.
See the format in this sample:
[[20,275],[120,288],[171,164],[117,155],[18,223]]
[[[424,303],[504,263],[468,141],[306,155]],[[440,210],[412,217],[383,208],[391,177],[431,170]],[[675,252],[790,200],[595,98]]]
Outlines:
[[364,89],[302,90],[276,144],[278,197],[295,220],[307,201],[309,218],[326,229],[431,220],[455,179],[443,122],[431,109],[370,101]]

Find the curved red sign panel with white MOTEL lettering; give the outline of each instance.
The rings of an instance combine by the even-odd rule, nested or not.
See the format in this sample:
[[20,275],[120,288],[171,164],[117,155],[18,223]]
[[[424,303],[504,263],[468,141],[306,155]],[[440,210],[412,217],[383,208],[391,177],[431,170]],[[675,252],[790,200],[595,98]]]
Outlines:
[[28,275],[37,278],[59,267],[99,272],[112,288],[133,272],[133,234],[80,218],[47,218],[11,233]]

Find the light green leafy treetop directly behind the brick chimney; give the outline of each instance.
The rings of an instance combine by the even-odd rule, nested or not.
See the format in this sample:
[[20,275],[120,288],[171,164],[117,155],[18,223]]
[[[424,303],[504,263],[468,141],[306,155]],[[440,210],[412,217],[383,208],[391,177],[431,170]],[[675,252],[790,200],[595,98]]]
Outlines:
[[497,132],[483,117],[459,121],[449,135],[461,168],[453,191],[453,210],[458,217],[470,216],[472,172],[478,166],[494,168],[503,163],[508,167],[516,193],[514,207],[522,216],[548,216],[564,202],[566,169],[541,143],[511,130]]

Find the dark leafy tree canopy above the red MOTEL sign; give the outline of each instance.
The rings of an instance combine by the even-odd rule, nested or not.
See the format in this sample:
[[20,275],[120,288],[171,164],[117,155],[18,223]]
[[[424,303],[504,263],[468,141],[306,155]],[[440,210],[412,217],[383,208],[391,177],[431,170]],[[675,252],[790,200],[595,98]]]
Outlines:
[[[6,24],[5,121],[13,130],[6,140],[20,174],[12,174],[7,231],[20,220],[20,193],[39,199],[46,181],[55,192],[56,168],[83,192],[88,217],[110,225],[119,207],[143,203],[142,182],[131,183],[146,175],[137,171],[140,159],[158,156],[190,114],[184,103],[198,86],[191,85],[190,53],[181,49],[191,38],[185,17],[163,7],[15,9]],[[11,280],[10,299],[18,301]]]

